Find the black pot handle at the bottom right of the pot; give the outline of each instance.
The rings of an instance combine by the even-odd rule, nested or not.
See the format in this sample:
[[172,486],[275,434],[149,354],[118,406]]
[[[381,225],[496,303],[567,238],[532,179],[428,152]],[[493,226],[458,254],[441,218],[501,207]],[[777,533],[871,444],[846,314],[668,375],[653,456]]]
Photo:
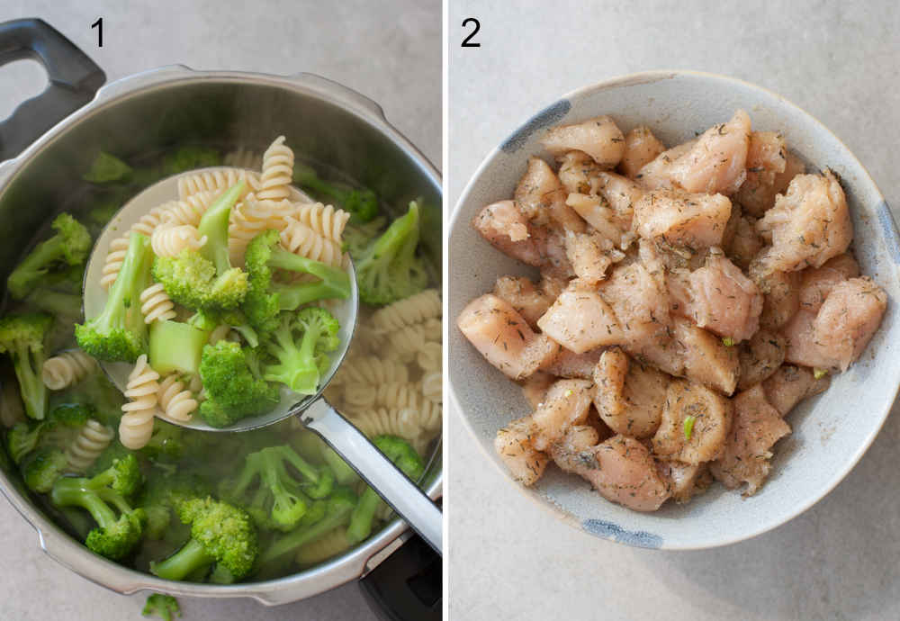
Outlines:
[[418,535],[359,581],[382,621],[440,621],[441,557]]

